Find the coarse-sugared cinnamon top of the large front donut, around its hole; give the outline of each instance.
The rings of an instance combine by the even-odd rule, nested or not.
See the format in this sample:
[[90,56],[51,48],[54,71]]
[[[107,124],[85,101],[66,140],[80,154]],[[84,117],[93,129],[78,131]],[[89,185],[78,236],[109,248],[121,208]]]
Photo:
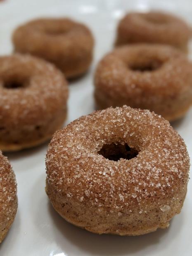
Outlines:
[[[127,144],[138,154],[118,161],[99,154],[114,144]],[[112,207],[120,215],[124,207],[131,212],[137,206],[142,213],[146,205],[174,200],[187,183],[189,157],[168,121],[123,106],[95,111],[57,131],[46,167],[48,183],[63,196],[98,211]]]

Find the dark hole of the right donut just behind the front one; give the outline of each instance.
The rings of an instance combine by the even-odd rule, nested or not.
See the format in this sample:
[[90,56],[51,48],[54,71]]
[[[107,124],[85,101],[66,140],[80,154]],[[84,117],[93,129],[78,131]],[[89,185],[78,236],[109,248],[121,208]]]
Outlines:
[[130,65],[129,68],[132,71],[152,72],[152,71],[159,69],[161,66],[162,66],[161,62],[151,61],[148,63],[133,64],[133,65]]

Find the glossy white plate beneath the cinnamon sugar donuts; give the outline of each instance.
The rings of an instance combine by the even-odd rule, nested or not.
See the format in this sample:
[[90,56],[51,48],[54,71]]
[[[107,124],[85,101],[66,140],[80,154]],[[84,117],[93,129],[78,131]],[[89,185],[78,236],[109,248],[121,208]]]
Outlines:
[[[92,76],[98,60],[112,48],[118,19],[133,9],[166,9],[192,23],[192,2],[176,0],[4,0],[0,2],[0,54],[12,52],[11,33],[28,19],[68,16],[85,22],[95,40],[95,60],[86,76],[70,85],[66,123],[94,110]],[[192,156],[192,109],[173,124],[184,138]],[[17,176],[19,208],[0,256],[81,255],[192,255],[192,182],[182,212],[166,230],[140,237],[95,235],[66,223],[50,206],[45,194],[45,153],[47,144],[7,154]]]

